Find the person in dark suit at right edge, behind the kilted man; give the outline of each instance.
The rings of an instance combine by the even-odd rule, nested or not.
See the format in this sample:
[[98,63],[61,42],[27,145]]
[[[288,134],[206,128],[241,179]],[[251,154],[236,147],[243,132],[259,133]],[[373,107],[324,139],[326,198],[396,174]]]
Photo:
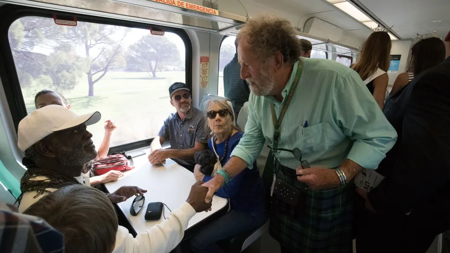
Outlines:
[[425,253],[450,228],[450,32],[446,60],[390,96],[384,114],[397,143],[377,172],[386,178],[357,215],[358,253]]

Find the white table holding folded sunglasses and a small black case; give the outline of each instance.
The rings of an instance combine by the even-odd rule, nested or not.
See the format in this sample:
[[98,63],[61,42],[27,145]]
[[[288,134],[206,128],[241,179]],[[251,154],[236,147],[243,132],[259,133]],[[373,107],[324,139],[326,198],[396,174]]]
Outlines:
[[[146,155],[133,158],[133,161],[136,166],[135,169],[126,171],[125,176],[115,182],[105,184],[105,187],[109,192],[114,192],[122,186],[137,186],[141,189],[148,190],[147,193],[144,193],[144,206],[137,216],[130,214],[130,207],[135,198],[134,196],[118,204],[135,232],[143,233],[164,221],[163,215],[161,215],[159,221],[146,221],[144,215],[147,205],[151,202],[162,202],[172,211],[175,211],[185,202],[191,186],[196,180],[192,172],[170,159],[167,159],[164,165],[151,165]],[[201,222],[212,214],[218,211],[224,211],[228,207],[227,204],[227,199],[214,196],[212,200],[212,211],[203,211],[194,215],[189,221],[187,229],[196,224],[201,226]],[[163,211],[166,217],[170,213],[166,207],[164,207]]]

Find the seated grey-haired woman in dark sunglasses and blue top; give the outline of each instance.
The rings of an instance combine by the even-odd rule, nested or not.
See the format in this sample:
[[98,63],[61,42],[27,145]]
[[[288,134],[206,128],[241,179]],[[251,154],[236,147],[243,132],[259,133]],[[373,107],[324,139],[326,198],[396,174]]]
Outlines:
[[[244,133],[233,126],[234,114],[231,106],[224,100],[208,100],[205,102],[207,127],[213,137],[208,147],[218,155],[223,166],[230,158],[234,147],[238,145]],[[214,176],[213,172],[212,176]],[[194,169],[196,180],[207,182],[212,177],[204,175],[200,166]],[[230,211],[204,228],[191,239],[191,249],[196,253],[224,252],[217,241],[224,240],[242,232],[259,228],[266,221],[264,215],[264,187],[256,162],[252,169],[244,169],[241,173],[216,191],[216,195],[230,199]]]

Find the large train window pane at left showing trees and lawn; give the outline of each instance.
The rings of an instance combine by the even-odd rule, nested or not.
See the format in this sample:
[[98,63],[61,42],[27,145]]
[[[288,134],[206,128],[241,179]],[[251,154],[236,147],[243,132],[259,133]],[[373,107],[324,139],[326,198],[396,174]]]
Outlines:
[[[175,32],[158,36],[148,27],[87,21],[63,26],[31,16],[14,21],[8,38],[27,113],[38,91],[57,90],[75,113],[99,111],[102,122],[115,122],[111,147],[155,137],[175,111],[169,85],[186,82],[187,47]],[[88,129],[98,147],[103,123]]]

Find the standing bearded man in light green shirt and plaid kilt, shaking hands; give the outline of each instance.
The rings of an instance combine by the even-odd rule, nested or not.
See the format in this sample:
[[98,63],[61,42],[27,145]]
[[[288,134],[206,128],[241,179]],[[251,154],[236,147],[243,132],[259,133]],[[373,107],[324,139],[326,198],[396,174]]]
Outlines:
[[248,121],[233,157],[203,184],[205,201],[251,167],[267,141],[275,156],[270,235],[282,252],[352,252],[352,180],[363,168],[377,169],[397,133],[358,73],[300,58],[289,21],[251,19],[237,41],[251,90]]

